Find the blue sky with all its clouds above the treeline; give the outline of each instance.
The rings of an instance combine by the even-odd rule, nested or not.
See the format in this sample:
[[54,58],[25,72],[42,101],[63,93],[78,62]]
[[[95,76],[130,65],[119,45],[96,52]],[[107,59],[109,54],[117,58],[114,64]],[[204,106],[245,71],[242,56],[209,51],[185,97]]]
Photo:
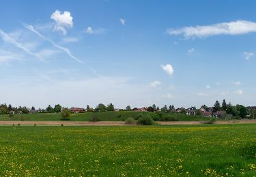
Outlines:
[[255,1],[1,1],[0,102],[255,106]]

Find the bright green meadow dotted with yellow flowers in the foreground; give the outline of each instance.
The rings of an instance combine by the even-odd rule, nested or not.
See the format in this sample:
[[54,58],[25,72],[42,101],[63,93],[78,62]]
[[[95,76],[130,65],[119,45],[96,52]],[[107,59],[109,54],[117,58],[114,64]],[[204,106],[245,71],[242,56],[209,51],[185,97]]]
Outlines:
[[0,129],[0,176],[253,176],[256,125]]

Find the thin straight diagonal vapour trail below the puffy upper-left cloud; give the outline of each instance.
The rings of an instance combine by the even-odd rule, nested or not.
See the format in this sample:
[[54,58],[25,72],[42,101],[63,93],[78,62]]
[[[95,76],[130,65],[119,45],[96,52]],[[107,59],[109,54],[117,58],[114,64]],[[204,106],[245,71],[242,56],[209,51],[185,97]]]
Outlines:
[[79,62],[79,63],[83,63],[83,61],[81,61],[80,59],[74,57],[74,55],[70,52],[70,49],[63,47],[63,46],[59,46],[58,44],[55,44],[55,42],[53,42],[53,40],[48,39],[46,37],[44,37],[44,35],[42,35],[41,33],[39,33],[38,31],[36,31],[32,25],[26,25],[23,24],[25,28],[29,29],[30,31],[32,31],[33,33],[37,34],[38,36],[42,37],[42,39],[45,39],[46,41],[50,42],[51,44],[53,44],[53,46],[55,48],[58,48],[59,50],[62,50],[63,52],[66,52],[66,54],[68,54],[68,56],[70,56],[72,59],[74,59],[75,61]]

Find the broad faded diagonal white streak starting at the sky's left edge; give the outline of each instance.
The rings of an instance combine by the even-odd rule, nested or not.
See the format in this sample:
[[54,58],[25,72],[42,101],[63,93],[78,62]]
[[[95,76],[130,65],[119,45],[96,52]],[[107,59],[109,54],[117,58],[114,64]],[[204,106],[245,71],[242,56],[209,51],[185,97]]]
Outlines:
[[[10,35],[8,35],[8,33],[5,33],[3,30],[0,29],[0,37],[3,39],[4,42],[8,43],[8,44],[12,44],[14,46],[16,46],[16,48],[20,48],[21,50],[23,50],[25,53],[36,57],[37,59],[39,59],[40,61],[44,61],[42,59],[42,57],[40,57],[40,55],[38,55],[35,52],[32,52],[31,50],[29,50],[29,48],[26,48],[23,44],[21,44],[20,42],[17,42],[16,39],[10,37]],[[5,58],[6,59],[6,58]]]

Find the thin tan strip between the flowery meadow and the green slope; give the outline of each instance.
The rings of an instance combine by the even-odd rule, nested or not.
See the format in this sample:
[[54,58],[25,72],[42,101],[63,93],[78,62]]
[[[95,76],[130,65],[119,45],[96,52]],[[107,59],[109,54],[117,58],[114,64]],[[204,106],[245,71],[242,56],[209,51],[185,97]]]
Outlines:
[[[159,125],[201,125],[200,121],[170,121],[156,122]],[[214,124],[248,124],[256,123],[256,120],[221,120]],[[0,121],[0,125],[56,125],[60,126],[126,126],[124,122],[117,121],[100,121],[100,122],[75,122],[75,121]]]

